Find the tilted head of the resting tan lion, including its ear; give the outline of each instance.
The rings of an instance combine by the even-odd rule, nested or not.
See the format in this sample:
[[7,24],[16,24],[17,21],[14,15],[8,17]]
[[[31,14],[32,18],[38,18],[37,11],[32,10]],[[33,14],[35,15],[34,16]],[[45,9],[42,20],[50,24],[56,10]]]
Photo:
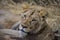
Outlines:
[[46,22],[46,10],[28,10],[21,14],[21,26],[25,32],[37,33]]

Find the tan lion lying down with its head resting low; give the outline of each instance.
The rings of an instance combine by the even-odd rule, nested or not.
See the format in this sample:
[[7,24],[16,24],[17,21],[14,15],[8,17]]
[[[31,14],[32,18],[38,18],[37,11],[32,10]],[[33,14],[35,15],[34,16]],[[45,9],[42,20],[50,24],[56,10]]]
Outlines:
[[21,20],[11,29],[22,31],[25,35],[21,40],[53,40],[54,33],[46,22],[48,12],[44,9],[30,9],[22,13]]

